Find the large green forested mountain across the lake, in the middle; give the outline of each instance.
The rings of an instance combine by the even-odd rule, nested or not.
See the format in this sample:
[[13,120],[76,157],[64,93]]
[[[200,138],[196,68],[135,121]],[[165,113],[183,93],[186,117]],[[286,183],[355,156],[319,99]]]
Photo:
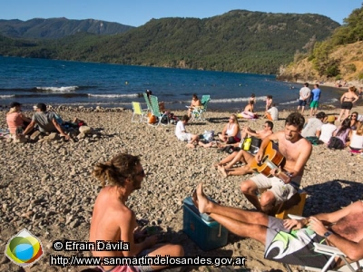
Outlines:
[[0,54],[83,62],[277,73],[297,51],[312,50],[339,26],[323,15],[234,10],[211,18],[162,18],[123,34],[8,40]]

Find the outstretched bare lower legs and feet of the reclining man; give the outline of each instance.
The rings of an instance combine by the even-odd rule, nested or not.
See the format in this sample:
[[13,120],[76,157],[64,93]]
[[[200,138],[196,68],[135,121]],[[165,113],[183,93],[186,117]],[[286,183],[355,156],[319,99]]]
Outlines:
[[201,213],[209,213],[212,219],[240,237],[254,238],[265,244],[268,216],[260,212],[218,205],[205,197],[201,183],[197,187],[197,199]]

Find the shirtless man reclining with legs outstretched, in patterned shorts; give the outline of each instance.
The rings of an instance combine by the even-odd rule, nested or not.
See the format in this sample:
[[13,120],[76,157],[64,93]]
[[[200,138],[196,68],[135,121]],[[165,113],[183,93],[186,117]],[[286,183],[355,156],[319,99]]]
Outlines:
[[[329,256],[315,253],[314,242],[333,245],[346,254],[349,261],[363,257],[362,200],[335,212],[301,220],[276,219],[261,212],[221,206],[206,198],[202,184],[198,185],[193,200],[201,213],[207,213],[232,233],[265,245],[265,258],[322,268]],[[341,265],[344,263],[339,259],[329,268]]]

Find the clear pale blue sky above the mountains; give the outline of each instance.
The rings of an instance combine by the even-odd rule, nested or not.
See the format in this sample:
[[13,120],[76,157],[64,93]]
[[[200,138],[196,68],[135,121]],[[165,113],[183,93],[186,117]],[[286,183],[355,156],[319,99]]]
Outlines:
[[165,17],[208,18],[231,10],[319,14],[343,24],[363,0],[3,0],[0,19],[65,17],[96,19],[131,26]]

